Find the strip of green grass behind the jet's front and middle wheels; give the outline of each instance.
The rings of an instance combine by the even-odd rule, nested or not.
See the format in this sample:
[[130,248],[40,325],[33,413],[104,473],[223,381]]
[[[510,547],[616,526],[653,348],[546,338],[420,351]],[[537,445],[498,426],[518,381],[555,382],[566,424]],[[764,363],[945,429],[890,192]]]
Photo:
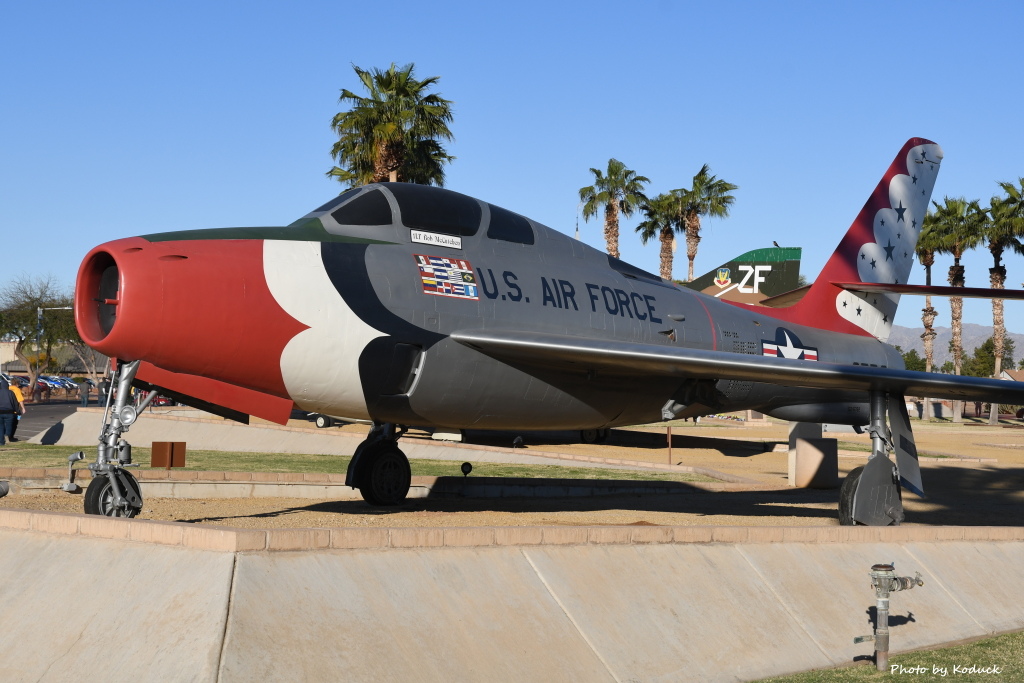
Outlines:
[[[10,443],[0,449],[0,467],[68,467],[68,456],[75,453],[69,446]],[[85,463],[95,460],[95,450],[87,450]],[[148,469],[150,449],[132,447],[132,459],[140,469]],[[233,453],[224,451],[188,451],[186,470],[207,472],[316,472],[343,473],[348,468],[348,456],[295,455],[287,453]],[[462,462],[449,460],[411,460],[414,476],[462,476]],[[714,482],[718,479],[685,472],[649,472],[646,470],[609,470],[593,467],[561,467],[558,465],[512,465],[472,463],[470,476],[565,478],[565,479],[630,479],[644,481]],[[79,464],[77,467],[82,467]]]

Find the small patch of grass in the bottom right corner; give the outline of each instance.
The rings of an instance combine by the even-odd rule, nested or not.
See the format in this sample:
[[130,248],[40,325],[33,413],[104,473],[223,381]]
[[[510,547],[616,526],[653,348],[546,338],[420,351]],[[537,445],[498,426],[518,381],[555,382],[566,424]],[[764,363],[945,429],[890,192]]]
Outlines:
[[[865,643],[865,652],[870,643]],[[971,668],[976,669],[971,673]],[[890,671],[876,671],[873,663],[843,669],[811,671],[767,678],[762,683],[847,683],[848,681],[957,681],[992,683],[1024,681],[1024,632],[1009,633],[966,645],[923,650],[889,657]],[[958,669],[956,669],[958,668]],[[997,671],[996,671],[997,668]],[[984,672],[988,669],[987,673]],[[945,672],[943,674],[943,672]]]

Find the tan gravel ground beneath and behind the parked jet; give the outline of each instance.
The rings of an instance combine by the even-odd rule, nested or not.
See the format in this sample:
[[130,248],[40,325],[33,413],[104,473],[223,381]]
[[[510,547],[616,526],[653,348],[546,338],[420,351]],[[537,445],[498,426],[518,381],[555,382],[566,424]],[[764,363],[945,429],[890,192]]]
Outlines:
[[[929,498],[907,495],[910,524],[1001,525],[1024,523],[1024,449],[1017,429],[983,426],[921,425],[919,449],[925,453],[995,458],[994,463],[925,463]],[[504,438],[495,436],[495,439]],[[785,425],[733,427],[729,423],[677,428],[673,460],[691,466],[763,481],[766,488],[784,485],[785,453],[765,452],[763,442],[784,441]],[[841,435],[851,443],[866,437]],[[609,458],[665,462],[665,431],[616,430],[608,444],[584,445],[552,438],[538,450],[587,453]],[[688,447],[687,447],[688,446]],[[521,452],[520,452],[521,453]],[[845,474],[862,457],[841,457]],[[597,473],[595,472],[595,475]],[[409,501],[396,508],[374,508],[362,502],[308,499],[148,498],[140,517],[221,526],[507,526],[507,525],[779,525],[837,524],[838,490],[772,489],[692,493],[668,496],[622,496],[586,499],[502,499]],[[62,493],[8,496],[0,507],[81,512],[82,497]]]

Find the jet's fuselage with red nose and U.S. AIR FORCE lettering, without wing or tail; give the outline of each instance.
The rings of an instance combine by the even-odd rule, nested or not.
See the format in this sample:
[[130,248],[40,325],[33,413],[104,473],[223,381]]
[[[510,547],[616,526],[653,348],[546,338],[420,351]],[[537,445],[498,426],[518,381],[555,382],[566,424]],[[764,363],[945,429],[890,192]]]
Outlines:
[[[426,212],[438,193],[447,204]],[[83,272],[83,331],[100,350],[378,422],[586,429],[655,422],[667,404],[680,418],[753,409],[868,419],[863,392],[732,380],[697,390],[663,374],[517,367],[451,338],[465,330],[902,368],[871,337],[782,323],[484,202],[402,183],[351,190],[287,228],[109,243]],[[115,303],[89,303],[115,292]],[[150,300],[156,292],[160,301]],[[119,330],[129,312],[137,329]]]

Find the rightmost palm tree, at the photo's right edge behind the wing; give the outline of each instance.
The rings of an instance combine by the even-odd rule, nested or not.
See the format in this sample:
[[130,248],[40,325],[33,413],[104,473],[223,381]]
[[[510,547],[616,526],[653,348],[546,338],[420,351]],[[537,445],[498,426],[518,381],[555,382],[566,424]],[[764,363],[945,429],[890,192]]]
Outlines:
[[[1024,178],[1018,188],[1012,182],[1000,182],[1006,198],[993,197],[989,208],[990,219],[985,223],[985,241],[992,254],[992,267],[988,269],[989,285],[993,290],[1006,288],[1007,268],[1002,265],[1002,252],[1008,248],[1018,254],[1024,252]],[[992,299],[992,346],[995,369],[992,377],[1002,373],[1002,353],[1006,347],[1007,328],[1002,316],[1002,299]],[[998,424],[999,407],[991,403],[989,424]]]

